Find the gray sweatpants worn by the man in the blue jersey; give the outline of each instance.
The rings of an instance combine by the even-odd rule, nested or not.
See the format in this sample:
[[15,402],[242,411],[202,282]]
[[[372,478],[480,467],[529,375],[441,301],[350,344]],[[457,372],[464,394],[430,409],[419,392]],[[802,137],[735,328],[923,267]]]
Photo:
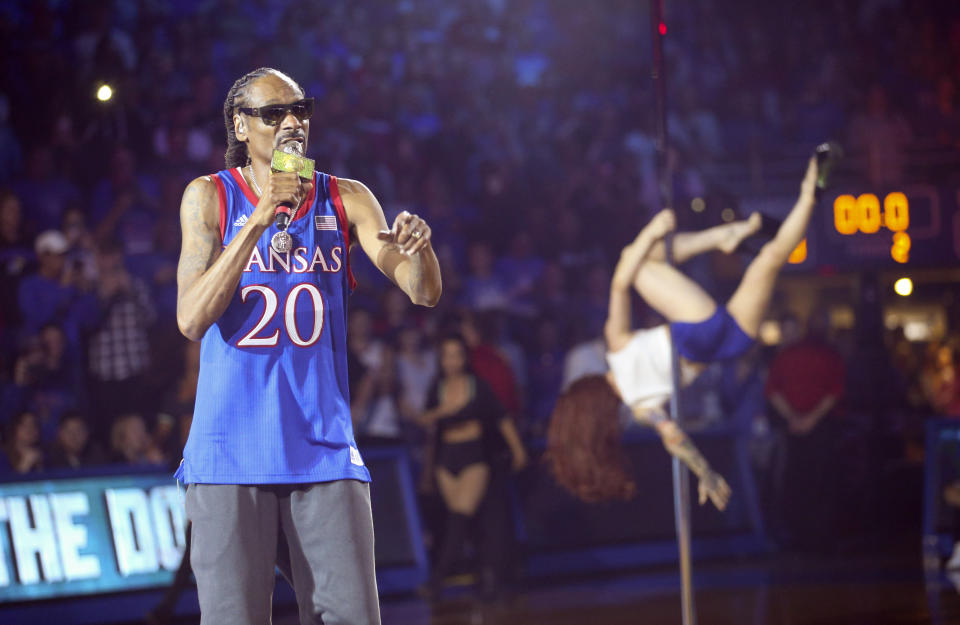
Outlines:
[[201,625],[270,623],[278,561],[301,625],[379,625],[369,484],[190,484],[186,512]]

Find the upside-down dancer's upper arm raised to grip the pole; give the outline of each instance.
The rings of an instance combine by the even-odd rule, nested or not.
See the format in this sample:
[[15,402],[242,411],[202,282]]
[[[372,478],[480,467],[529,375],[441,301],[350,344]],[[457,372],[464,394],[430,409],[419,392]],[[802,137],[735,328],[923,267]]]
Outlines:
[[630,289],[633,281],[654,244],[676,228],[676,225],[673,211],[662,210],[620,252],[620,260],[617,261],[613,279],[610,281],[610,308],[603,327],[609,351],[619,350],[630,340]]

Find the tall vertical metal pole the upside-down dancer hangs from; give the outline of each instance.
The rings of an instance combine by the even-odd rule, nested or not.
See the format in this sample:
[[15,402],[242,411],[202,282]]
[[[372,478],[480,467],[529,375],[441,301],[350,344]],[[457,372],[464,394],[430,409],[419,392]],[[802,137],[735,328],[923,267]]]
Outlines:
[[[663,38],[667,34],[663,0],[650,0],[650,30],[653,40],[653,90],[657,114],[657,171],[659,173],[660,203],[673,208],[673,171],[667,156],[667,84],[663,61]],[[667,262],[672,262],[667,254]],[[680,420],[680,359],[676,346],[671,348],[673,362],[673,393],[670,396],[670,418]],[[687,467],[673,457],[673,509],[680,552],[680,601],[683,625],[696,625],[697,614],[693,603],[693,566],[690,560],[690,473]]]

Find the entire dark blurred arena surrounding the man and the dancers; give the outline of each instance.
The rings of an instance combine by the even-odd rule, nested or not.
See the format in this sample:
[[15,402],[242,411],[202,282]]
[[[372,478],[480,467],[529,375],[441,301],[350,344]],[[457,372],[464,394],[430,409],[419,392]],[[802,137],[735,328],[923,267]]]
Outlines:
[[[173,479],[199,359],[176,322],[179,206],[223,169],[225,94],[261,66],[316,98],[317,169],[363,181],[388,223],[423,217],[442,268],[428,309],[352,256],[352,413],[384,623],[681,622],[659,438],[625,420],[637,494],[585,504],[541,462],[549,418],[561,389],[606,367],[611,272],[661,208],[663,172],[680,230],[782,218],[826,140],[844,157],[758,345],[680,393],[733,491],[723,513],[693,502],[696,616],[960,622],[960,3],[669,0],[659,23],[651,9],[3,2],[0,623],[199,621]],[[749,259],[684,271],[723,301]],[[497,371],[530,462],[494,472],[437,592],[446,514],[417,417],[451,327]],[[801,431],[775,396],[836,401]],[[509,561],[491,584],[479,563],[497,530]],[[273,609],[300,622],[279,576]]]

